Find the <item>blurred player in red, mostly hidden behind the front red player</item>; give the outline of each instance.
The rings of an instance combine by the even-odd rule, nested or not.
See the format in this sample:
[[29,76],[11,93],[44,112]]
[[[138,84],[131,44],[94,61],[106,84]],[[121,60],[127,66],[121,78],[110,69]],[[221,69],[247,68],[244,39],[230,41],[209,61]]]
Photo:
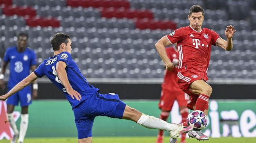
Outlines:
[[[169,59],[174,65],[172,71],[165,71],[165,76],[162,83],[161,98],[158,107],[161,109],[160,119],[167,121],[169,114],[172,110],[174,101],[177,100],[182,115],[182,122],[186,122],[188,116],[187,103],[189,96],[184,93],[178,86],[177,73],[178,73],[178,50],[176,44],[165,48]],[[163,130],[159,130],[156,143],[163,143]],[[182,134],[181,142],[185,143],[186,134]]]

